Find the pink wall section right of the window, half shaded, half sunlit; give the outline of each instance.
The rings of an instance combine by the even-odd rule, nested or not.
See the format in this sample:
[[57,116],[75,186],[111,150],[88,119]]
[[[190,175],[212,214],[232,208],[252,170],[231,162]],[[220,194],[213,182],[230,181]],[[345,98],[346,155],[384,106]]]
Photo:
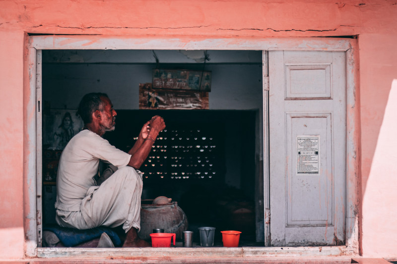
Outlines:
[[[360,37],[362,251],[397,256],[397,34]],[[382,52],[381,52],[382,51]]]

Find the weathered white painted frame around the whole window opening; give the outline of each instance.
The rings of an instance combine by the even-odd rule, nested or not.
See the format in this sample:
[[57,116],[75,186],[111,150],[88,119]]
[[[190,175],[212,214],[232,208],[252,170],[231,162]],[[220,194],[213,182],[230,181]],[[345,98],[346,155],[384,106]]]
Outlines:
[[[24,204],[25,210],[25,237],[26,237],[26,256],[27,257],[108,257],[112,256],[132,257],[132,256],[154,256],[158,249],[56,249],[38,248],[37,243],[37,201],[41,199],[41,193],[37,191],[41,188],[41,182],[37,182],[37,171],[40,164],[37,164],[36,146],[36,55],[41,50],[285,50],[285,51],[343,51],[346,52],[346,93],[347,93],[347,113],[346,113],[346,245],[339,247],[303,247],[289,250],[288,253],[280,248],[208,248],[200,250],[194,257],[199,255],[208,257],[208,251],[216,257],[223,255],[239,257],[264,257],[277,253],[277,256],[293,256],[292,252],[300,256],[335,256],[335,255],[357,255],[359,250],[358,241],[358,217],[359,217],[359,175],[360,175],[360,120],[359,120],[359,97],[358,97],[358,47],[356,39],[337,39],[337,38],[205,38],[195,36],[180,37],[140,37],[140,36],[30,36],[27,37],[26,47],[27,56],[25,61],[25,74],[28,81],[25,81],[24,98],[25,102],[25,138],[29,140],[25,145],[25,162],[27,163],[24,172]],[[26,80],[26,78],[25,78]],[[41,82],[41,80],[38,80]],[[268,134],[267,134],[267,75],[264,65],[264,194],[265,207],[268,205]],[[270,87],[271,89],[271,87]],[[41,149],[41,148],[40,148]],[[39,155],[40,156],[40,155]],[[36,186],[37,184],[37,186]],[[40,185],[40,186],[39,186]],[[265,208],[266,212],[266,208]],[[40,219],[39,219],[40,220]],[[265,234],[266,241],[266,234]],[[196,250],[197,252],[197,250]],[[319,253],[320,252],[320,253]],[[186,249],[166,249],[162,256],[193,256],[192,252]]]

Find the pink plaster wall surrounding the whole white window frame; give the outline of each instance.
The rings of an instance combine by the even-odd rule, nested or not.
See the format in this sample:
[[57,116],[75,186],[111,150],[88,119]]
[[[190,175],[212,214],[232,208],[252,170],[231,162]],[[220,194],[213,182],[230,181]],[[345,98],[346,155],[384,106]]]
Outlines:
[[179,35],[190,39],[359,35],[360,249],[368,257],[397,257],[397,143],[390,134],[396,128],[390,123],[396,118],[388,115],[393,111],[389,110],[393,105],[392,80],[397,78],[397,0],[0,1],[0,93],[5,121],[0,128],[0,259],[23,258],[24,252],[26,32],[170,38]]

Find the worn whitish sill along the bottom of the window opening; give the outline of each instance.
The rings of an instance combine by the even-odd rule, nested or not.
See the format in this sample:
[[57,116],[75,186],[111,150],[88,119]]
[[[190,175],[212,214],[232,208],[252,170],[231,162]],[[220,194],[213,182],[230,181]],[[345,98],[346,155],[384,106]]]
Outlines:
[[158,259],[161,258],[240,258],[256,259],[269,257],[342,257],[345,246],[340,247],[240,247],[240,248],[37,248],[38,258],[102,258],[102,259]]

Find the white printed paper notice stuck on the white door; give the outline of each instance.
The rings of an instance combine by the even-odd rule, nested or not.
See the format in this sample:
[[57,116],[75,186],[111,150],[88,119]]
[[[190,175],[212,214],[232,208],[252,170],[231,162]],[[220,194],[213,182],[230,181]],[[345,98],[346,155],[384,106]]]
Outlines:
[[320,136],[297,136],[298,152],[296,172],[298,174],[318,174],[320,170]]

